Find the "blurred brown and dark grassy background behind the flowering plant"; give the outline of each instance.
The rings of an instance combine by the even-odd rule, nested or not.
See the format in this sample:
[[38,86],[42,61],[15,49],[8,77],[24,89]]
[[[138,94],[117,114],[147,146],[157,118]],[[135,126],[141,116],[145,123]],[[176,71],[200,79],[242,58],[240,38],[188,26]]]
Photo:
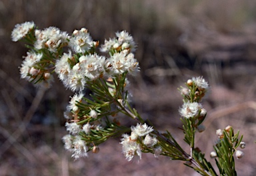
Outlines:
[[181,161],[151,154],[128,162],[119,139],[73,161],[61,141],[67,133],[63,111],[73,93],[57,78],[46,92],[20,79],[27,49],[10,35],[25,21],[68,33],[85,27],[100,43],[121,30],[133,35],[141,67],[130,78],[134,106],[184,146],[177,88],[204,76],[211,92],[203,100],[208,114],[198,146],[214,163],[209,153],[215,130],[233,126],[247,143],[245,156],[236,160],[237,173],[255,175],[255,8],[253,0],[0,0],[0,175],[198,175]]

